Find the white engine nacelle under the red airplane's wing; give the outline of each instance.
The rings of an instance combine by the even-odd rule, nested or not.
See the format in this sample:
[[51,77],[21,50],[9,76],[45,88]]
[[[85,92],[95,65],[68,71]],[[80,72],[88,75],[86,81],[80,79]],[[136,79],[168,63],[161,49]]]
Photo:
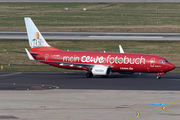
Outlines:
[[96,65],[92,69],[93,75],[110,75],[111,74],[111,68],[109,66],[104,65]]

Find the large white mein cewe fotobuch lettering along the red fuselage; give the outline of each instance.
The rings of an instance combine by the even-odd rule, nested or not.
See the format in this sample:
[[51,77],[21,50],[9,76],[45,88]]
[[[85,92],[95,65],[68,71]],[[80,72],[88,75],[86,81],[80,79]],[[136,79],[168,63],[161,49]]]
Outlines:
[[58,55],[54,55],[56,57],[53,57],[53,59],[62,59],[63,62],[83,62],[83,63],[110,63],[110,64],[145,64],[145,58],[143,58],[143,56],[141,57],[137,57],[137,58],[131,58],[131,57],[112,57],[111,55],[108,55],[107,57],[103,57],[103,56],[96,56],[96,57],[92,57],[92,56],[82,56],[77,57],[76,55],[74,56],[63,56],[60,57]]

